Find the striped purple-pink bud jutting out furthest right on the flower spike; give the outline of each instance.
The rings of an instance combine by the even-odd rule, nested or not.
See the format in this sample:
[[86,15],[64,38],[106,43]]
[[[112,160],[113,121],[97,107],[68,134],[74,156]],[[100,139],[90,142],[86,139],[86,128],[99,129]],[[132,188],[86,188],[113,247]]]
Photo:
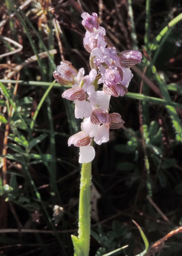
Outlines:
[[142,59],[141,52],[137,50],[125,50],[118,54],[120,57],[120,65],[124,68],[131,68]]

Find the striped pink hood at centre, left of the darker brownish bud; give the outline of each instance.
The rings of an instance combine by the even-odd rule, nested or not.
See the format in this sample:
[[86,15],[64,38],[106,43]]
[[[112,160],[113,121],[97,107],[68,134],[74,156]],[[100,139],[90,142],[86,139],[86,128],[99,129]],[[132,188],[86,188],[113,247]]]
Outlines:
[[95,108],[92,111],[90,121],[94,124],[111,123],[112,118],[110,117],[109,113],[107,113],[105,110],[101,108]]

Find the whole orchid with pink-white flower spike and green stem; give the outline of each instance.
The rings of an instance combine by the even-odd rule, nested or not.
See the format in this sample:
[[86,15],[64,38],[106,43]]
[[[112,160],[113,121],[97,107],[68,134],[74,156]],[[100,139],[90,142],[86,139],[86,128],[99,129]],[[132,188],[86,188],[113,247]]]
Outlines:
[[[64,91],[63,98],[74,101],[75,118],[83,119],[81,132],[68,139],[68,146],[80,147],[79,163],[82,163],[79,236],[72,236],[75,256],[88,256],[90,248],[90,195],[91,162],[95,157],[93,141],[100,145],[109,141],[109,130],[119,129],[124,121],[118,113],[109,113],[111,96],[127,93],[133,74],[129,68],[141,61],[142,54],[136,50],[117,52],[115,47],[106,47],[106,30],[99,26],[96,13],[82,13],[85,27],[84,47],[90,53],[89,75],[84,68],[77,71],[69,61],[61,61],[54,78],[71,88]],[[99,84],[103,83],[102,91]]]

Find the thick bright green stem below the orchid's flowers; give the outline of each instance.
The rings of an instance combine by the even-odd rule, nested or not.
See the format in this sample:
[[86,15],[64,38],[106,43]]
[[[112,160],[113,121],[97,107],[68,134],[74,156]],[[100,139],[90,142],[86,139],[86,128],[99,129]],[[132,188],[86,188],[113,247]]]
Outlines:
[[79,203],[79,240],[84,256],[89,255],[90,249],[90,197],[91,197],[91,167],[92,162],[83,163],[80,184]]

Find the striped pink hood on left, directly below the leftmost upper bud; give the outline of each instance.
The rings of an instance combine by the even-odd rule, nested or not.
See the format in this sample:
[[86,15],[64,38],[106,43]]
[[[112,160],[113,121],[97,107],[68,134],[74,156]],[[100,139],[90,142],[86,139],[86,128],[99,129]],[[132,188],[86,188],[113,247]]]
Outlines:
[[62,94],[63,98],[69,99],[69,100],[85,100],[86,99],[86,94],[85,91],[80,88],[80,87],[73,87],[70,88],[66,91],[64,91],[64,93]]

